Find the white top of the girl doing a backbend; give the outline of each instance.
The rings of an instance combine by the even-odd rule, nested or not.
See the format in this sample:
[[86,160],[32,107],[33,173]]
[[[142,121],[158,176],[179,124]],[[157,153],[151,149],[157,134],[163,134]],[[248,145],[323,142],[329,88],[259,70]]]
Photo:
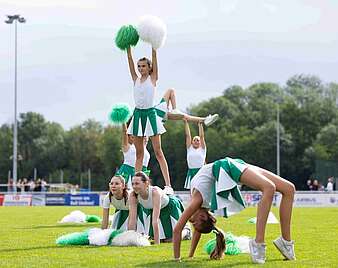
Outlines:
[[202,207],[210,208],[212,186],[216,179],[212,174],[213,163],[204,165],[191,180],[191,193],[194,189],[198,190],[203,198]]

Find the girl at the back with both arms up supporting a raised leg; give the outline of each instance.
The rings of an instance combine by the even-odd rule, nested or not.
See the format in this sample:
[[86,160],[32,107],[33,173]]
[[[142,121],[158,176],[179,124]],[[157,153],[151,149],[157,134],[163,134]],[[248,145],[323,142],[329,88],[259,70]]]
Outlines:
[[204,139],[204,130],[201,121],[198,123],[198,136],[191,139],[190,128],[187,120],[184,120],[185,143],[187,147],[188,172],[184,188],[190,189],[190,182],[200,168],[205,164],[207,147]]

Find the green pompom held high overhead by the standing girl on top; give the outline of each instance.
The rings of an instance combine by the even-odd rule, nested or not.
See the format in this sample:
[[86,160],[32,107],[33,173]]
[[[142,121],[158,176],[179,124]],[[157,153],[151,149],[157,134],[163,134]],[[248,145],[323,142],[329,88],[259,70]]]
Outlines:
[[115,44],[121,50],[136,46],[139,35],[133,25],[122,26],[115,36]]

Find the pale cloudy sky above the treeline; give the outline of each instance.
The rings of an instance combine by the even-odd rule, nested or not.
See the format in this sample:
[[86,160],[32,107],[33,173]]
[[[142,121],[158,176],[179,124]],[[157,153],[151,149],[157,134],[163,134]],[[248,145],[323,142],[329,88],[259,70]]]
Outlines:
[[[175,88],[178,106],[217,97],[231,85],[284,85],[295,74],[338,82],[338,0],[0,0],[0,18],[20,14],[18,112],[65,129],[111,106],[133,107],[126,54],[114,45],[146,14],[167,25],[158,50],[157,99]],[[0,125],[14,118],[14,25],[0,23]],[[139,42],[134,58],[151,56]]]

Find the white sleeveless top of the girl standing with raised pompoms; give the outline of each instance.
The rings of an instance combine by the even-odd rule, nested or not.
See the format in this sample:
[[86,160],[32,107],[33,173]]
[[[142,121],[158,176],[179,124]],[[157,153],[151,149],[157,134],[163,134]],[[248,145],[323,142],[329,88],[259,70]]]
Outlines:
[[154,107],[155,91],[156,87],[151,82],[150,75],[143,83],[137,78],[134,85],[135,107],[139,109]]

